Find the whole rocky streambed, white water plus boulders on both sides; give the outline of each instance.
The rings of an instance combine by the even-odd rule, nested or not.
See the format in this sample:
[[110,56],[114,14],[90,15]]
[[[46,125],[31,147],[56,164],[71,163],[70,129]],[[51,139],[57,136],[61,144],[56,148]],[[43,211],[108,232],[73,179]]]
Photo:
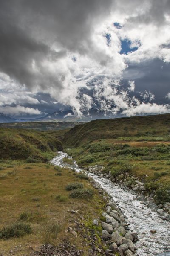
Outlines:
[[[73,165],[63,163],[62,159],[67,156],[66,153],[60,151],[51,163],[74,168],[77,172],[82,171],[76,162]],[[103,242],[109,245],[109,249],[105,252],[106,255],[115,255],[116,250],[120,255],[127,256],[134,255],[134,253],[138,256],[153,256],[170,251],[170,223],[164,216],[164,212],[167,212],[166,208],[162,209],[163,215],[160,216],[158,209],[149,208],[149,204],[153,204],[147,201],[148,198],[152,198],[150,195],[145,198],[146,203],[144,203],[142,193],[141,200],[139,199],[140,189],[134,188],[143,187],[143,184],[136,183],[139,185],[135,184],[130,190],[113,183],[112,177],[109,177],[109,174],[103,175],[99,166],[95,167],[94,171],[92,169],[88,169],[87,173],[93,178],[94,187],[98,189],[103,199],[108,200],[105,212],[102,213],[104,220],[101,223]],[[123,181],[120,183],[122,184]],[[109,199],[102,195],[104,192],[108,193]],[[94,224],[98,221],[100,220],[94,220]]]

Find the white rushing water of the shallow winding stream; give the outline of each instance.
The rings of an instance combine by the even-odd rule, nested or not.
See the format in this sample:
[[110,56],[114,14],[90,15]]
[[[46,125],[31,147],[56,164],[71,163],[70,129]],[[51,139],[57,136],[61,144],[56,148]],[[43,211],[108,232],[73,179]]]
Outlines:
[[[75,169],[76,172],[81,171],[76,161],[72,165],[63,163],[62,159],[68,157],[68,154],[59,151],[57,157],[51,160],[54,165]],[[136,246],[138,256],[155,256],[159,253],[170,251],[170,223],[161,220],[156,211],[147,208],[138,200],[134,200],[136,192],[122,189],[119,185],[100,178],[91,173],[88,176],[98,182],[106,192],[119,204],[120,209],[127,216],[130,230],[134,230],[139,235],[139,241]],[[155,234],[150,233],[150,230],[156,229]]]

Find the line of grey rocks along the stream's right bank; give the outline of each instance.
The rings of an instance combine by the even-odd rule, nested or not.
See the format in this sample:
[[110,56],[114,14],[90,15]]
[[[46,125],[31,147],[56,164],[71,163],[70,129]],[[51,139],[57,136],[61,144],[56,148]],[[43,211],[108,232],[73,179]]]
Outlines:
[[[111,172],[105,172],[105,168],[103,166],[89,166],[86,168],[86,170],[95,175],[98,175],[101,178],[103,177],[111,180],[112,182],[124,185],[129,189],[132,189],[134,192],[139,192],[142,195],[145,195],[143,203],[146,207],[155,202],[154,192],[152,192],[151,194],[146,194],[144,183],[140,182],[138,177],[130,176],[128,172],[124,174],[119,174],[114,177]],[[170,219],[170,203],[165,202],[164,204],[159,204],[157,206],[157,212],[160,214],[161,219]]]

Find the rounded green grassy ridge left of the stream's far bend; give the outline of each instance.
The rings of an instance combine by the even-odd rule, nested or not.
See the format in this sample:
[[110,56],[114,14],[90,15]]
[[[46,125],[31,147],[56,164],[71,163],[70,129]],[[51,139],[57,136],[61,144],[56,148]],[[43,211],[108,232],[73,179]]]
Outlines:
[[50,134],[40,131],[0,128],[0,158],[47,161],[62,143]]

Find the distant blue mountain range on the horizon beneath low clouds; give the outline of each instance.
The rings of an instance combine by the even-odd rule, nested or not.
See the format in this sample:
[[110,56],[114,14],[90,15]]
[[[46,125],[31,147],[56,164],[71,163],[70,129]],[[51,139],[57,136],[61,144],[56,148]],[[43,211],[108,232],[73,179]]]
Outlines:
[[[66,111],[55,111],[54,113],[48,113],[45,116],[36,119],[21,120],[14,119],[10,116],[6,116],[0,113],[0,123],[10,123],[10,122],[57,122],[57,121],[71,121],[71,122],[88,122],[94,119],[108,119],[113,118],[113,116],[105,116],[103,111],[97,111],[91,108],[90,111],[83,111],[83,116],[80,118],[75,116],[72,110]],[[114,116],[115,117],[115,116]]]

